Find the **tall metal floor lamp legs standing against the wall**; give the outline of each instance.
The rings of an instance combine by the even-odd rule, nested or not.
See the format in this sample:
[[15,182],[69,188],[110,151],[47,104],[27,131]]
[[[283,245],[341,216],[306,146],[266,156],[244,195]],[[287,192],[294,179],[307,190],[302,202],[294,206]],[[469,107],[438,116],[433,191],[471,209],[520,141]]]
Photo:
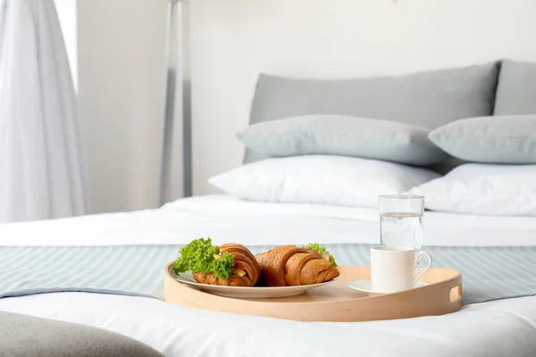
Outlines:
[[[192,195],[191,83],[188,73],[189,16],[187,0],[167,0],[165,95],[162,119],[159,203],[171,197],[173,147],[180,145],[180,196]],[[177,133],[178,136],[174,135]]]

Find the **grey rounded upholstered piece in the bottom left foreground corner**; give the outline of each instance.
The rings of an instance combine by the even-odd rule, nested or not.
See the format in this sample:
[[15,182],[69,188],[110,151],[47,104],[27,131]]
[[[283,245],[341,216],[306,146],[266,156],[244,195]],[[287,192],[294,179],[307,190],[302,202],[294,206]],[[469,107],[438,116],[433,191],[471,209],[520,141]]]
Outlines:
[[163,357],[130,337],[105,329],[0,311],[0,356]]

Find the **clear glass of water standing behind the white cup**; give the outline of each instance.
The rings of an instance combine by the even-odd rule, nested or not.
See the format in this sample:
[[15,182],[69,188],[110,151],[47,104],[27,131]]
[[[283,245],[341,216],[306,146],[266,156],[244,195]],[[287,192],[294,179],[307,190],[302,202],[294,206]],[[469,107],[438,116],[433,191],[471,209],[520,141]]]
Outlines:
[[380,244],[410,246],[419,253],[423,247],[423,213],[422,195],[381,195]]

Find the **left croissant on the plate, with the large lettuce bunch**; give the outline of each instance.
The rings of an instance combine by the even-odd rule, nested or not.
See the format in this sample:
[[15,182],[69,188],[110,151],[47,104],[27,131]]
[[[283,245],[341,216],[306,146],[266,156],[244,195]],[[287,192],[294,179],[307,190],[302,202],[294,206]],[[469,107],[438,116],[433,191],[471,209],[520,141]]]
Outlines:
[[234,256],[233,273],[227,280],[218,278],[214,272],[203,274],[194,273],[194,279],[201,284],[222,286],[255,286],[261,276],[261,267],[255,256],[244,245],[228,243],[220,246],[220,253],[230,253]]

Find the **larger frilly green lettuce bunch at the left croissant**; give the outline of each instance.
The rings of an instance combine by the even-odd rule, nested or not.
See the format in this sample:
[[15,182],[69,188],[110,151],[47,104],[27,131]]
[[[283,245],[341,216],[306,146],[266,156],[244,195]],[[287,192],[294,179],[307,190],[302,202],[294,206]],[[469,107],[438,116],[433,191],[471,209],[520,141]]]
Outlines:
[[[214,272],[214,275],[227,280],[232,274],[234,256],[230,253],[220,254],[220,247],[212,244],[211,238],[199,238],[180,248],[180,257],[175,262],[175,273],[191,271],[203,274]],[[214,257],[220,256],[216,259]]]

